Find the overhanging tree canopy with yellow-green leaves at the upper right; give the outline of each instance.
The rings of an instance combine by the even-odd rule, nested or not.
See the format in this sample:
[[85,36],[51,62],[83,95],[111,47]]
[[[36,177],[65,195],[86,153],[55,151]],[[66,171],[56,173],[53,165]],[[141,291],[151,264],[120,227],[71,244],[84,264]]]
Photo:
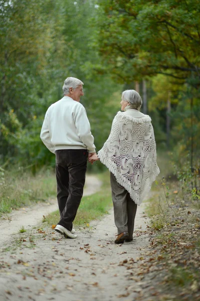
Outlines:
[[200,85],[197,0],[101,1],[100,52],[119,82],[165,74]]

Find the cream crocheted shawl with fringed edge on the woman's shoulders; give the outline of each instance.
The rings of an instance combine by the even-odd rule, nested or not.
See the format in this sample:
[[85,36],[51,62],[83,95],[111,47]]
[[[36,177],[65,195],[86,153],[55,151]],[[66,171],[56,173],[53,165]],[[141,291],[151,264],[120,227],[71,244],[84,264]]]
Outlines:
[[140,205],[159,174],[151,118],[135,109],[118,112],[98,157]]

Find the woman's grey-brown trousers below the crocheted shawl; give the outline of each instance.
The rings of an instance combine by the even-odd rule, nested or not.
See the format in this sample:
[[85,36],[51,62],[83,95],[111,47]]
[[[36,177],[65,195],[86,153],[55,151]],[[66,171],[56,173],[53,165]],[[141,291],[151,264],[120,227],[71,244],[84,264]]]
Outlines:
[[110,185],[118,234],[128,231],[129,238],[132,239],[137,205],[133,202],[127,190],[117,183],[112,173],[110,173]]

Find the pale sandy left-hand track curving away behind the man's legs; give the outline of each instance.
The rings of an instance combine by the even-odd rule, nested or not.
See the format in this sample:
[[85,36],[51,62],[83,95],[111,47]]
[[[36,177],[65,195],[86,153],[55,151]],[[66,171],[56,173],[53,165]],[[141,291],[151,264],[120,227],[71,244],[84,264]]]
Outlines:
[[[101,181],[97,177],[87,175],[83,195],[91,195],[97,192],[100,187]],[[6,219],[0,219],[0,249],[6,241],[12,239],[12,236],[18,233],[19,229],[21,229],[22,226],[24,226],[26,229],[31,229],[33,226],[41,223],[43,215],[46,216],[49,213],[56,211],[57,209],[58,203],[57,199],[55,198],[49,200],[47,203],[41,202],[30,207],[20,208],[19,210],[15,210],[11,214],[9,214]]]

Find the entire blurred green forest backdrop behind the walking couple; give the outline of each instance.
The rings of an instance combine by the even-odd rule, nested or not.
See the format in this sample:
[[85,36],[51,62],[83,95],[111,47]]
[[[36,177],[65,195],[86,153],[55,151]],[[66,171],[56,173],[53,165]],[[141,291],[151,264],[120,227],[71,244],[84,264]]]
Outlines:
[[[200,198],[199,13],[197,0],[0,0],[1,212],[16,179],[54,170],[40,130],[68,76],[84,82],[81,102],[97,151],[121,92],[136,89],[158,156],[170,157],[171,173]],[[31,197],[31,188],[24,193]]]

